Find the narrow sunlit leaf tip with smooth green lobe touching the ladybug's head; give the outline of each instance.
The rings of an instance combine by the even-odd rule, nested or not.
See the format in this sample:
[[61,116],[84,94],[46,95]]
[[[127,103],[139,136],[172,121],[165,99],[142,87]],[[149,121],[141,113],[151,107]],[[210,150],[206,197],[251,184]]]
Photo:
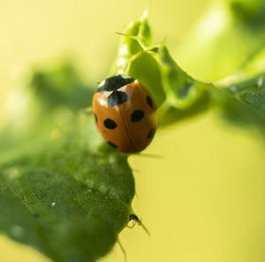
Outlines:
[[163,86],[159,67],[155,58],[150,56],[145,49],[151,45],[151,30],[148,25],[148,13],[144,12],[140,20],[127,26],[121,37],[110,75],[125,73],[147,86],[160,106],[164,99]]

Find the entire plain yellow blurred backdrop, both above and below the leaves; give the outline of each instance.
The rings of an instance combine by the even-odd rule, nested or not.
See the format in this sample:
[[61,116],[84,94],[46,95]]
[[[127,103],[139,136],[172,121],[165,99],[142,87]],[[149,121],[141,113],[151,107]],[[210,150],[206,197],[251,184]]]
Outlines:
[[[170,49],[207,10],[205,0],[150,1],[154,41]],[[0,126],[19,102],[11,96],[35,65],[70,56],[90,83],[104,78],[122,31],[148,1],[0,1]],[[194,42],[194,44],[196,44]],[[178,57],[175,57],[178,62]],[[129,158],[133,209],[151,232],[125,228],[128,261],[263,262],[265,152],[258,135],[208,112],[160,129],[142,156]],[[147,157],[154,153],[160,157]],[[49,261],[0,237],[4,262]],[[104,262],[124,261],[119,247]]]

